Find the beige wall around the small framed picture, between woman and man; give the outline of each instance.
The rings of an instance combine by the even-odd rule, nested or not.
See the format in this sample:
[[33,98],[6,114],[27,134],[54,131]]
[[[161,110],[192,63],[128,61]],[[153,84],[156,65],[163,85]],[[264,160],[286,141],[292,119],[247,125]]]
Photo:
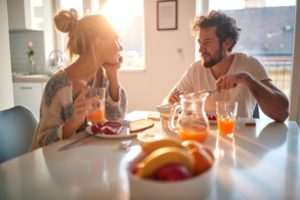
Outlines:
[[120,72],[129,111],[155,110],[195,59],[194,38],[189,27],[195,16],[195,0],[178,0],[178,29],[171,31],[156,30],[156,2],[144,1],[145,71]]

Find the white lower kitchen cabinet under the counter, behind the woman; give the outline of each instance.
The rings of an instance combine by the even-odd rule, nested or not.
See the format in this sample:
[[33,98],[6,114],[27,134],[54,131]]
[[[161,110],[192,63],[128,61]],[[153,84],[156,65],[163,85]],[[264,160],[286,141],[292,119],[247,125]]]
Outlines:
[[45,83],[14,82],[15,105],[29,108],[35,117],[39,119],[40,105]]

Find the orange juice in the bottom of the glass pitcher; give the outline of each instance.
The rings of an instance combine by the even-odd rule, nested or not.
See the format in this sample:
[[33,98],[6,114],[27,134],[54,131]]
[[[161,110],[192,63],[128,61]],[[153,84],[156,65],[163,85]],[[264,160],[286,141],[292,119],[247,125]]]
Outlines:
[[208,136],[208,127],[199,125],[181,126],[179,128],[179,137],[181,140],[196,140],[203,143]]

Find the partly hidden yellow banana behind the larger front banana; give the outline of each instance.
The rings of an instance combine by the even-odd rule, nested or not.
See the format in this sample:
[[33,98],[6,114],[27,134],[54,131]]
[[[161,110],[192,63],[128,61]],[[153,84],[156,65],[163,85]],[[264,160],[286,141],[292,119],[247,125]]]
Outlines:
[[162,147],[179,147],[183,148],[181,145],[181,142],[176,139],[171,138],[162,138],[159,140],[154,140],[151,142],[141,142],[141,146],[143,151],[145,152],[152,152],[156,149],[162,148]]

